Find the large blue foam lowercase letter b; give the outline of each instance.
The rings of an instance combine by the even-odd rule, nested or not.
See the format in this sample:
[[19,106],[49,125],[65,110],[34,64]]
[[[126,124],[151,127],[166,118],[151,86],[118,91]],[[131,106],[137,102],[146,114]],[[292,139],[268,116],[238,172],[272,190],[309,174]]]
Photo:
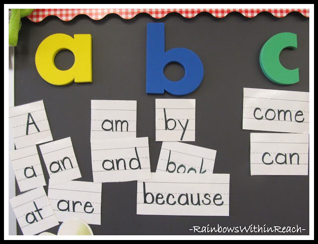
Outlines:
[[[184,69],[184,77],[168,80],[163,73],[169,63],[178,63]],[[203,64],[194,52],[186,48],[164,50],[164,23],[147,24],[147,87],[148,94],[186,95],[197,89],[203,79]]]

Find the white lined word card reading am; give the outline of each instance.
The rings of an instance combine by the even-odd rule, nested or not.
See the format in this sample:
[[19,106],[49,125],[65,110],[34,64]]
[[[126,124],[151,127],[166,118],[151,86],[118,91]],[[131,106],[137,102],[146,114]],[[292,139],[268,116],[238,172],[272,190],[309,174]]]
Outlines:
[[90,141],[136,137],[137,101],[91,100]]

